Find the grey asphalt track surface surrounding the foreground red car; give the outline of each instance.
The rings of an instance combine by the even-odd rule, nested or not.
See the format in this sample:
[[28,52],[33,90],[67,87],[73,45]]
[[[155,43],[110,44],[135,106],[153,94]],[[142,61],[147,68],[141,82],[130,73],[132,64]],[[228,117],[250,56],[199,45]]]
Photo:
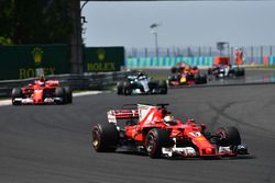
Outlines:
[[[150,159],[120,149],[98,153],[90,130],[106,112],[130,103],[169,103],[177,118],[209,129],[237,126],[251,156]],[[273,183],[275,84],[184,88],[167,95],[101,93],[72,105],[0,106],[1,183]]]

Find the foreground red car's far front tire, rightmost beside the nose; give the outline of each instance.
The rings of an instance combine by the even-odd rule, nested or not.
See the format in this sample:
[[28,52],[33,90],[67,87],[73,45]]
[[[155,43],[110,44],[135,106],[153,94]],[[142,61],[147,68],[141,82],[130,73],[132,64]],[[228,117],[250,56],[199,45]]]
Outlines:
[[220,136],[219,140],[217,141],[219,146],[238,146],[238,145],[241,145],[240,133],[233,126],[226,127],[226,128],[220,128],[217,131],[217,135]]

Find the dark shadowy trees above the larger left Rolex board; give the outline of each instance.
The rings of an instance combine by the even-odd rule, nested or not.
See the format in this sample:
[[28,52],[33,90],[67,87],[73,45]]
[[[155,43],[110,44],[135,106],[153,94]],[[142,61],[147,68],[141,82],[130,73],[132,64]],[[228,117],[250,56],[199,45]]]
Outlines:
[[70,0],[0,0],[0,45],[66,44]]

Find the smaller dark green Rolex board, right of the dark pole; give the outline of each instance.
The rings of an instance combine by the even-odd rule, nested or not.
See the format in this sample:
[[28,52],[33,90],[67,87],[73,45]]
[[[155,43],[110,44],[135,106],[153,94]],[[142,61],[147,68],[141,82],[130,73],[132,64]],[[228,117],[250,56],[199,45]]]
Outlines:
[[85,72],[119,71],[124,66],[123,47],[87,47],[84,50]]

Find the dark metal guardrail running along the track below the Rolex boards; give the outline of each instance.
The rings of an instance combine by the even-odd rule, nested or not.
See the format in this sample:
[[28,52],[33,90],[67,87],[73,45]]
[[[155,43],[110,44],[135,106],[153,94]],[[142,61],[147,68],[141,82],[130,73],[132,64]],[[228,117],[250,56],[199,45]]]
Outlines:
[[[98,72],[85,75],[55,75],[46,79],[57,79],[61,85],[68,85],[72,90],[105,90],[127,78],[132,71]],[[36,78],[0,81],[0,96],[10,96],[13,88],[21,88],[34,82]]]

